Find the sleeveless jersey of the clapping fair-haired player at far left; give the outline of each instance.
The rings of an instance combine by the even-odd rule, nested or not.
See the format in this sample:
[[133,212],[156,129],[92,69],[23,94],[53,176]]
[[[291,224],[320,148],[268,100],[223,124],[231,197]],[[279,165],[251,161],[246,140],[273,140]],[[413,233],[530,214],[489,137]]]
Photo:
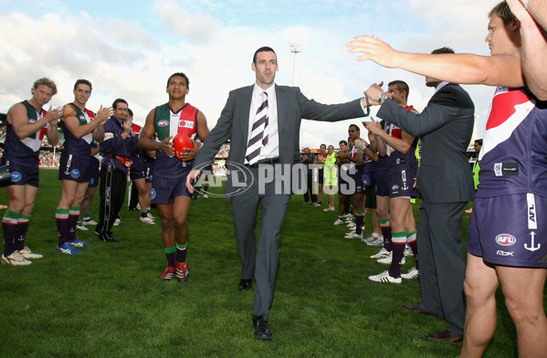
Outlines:
[[[26,117],[28,123],[36,123],[41,120],[47,111],[38,111],[27,100],[22,103],[26,108]],[[5,125],[5,151],[2,162],[16,161],[18,165],[38,166],[39,150],[42,145],[44,135],[47,133],[49,123],[45,124],[39,131],[30,134],[26,138],[19,139],[13,128],[13,125],[6,122]]]

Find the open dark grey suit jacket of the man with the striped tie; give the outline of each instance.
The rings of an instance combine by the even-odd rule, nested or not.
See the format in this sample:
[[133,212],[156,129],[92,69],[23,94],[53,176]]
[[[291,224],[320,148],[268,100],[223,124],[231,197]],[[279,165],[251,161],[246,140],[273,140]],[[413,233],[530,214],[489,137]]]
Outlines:
[[[247,152],[248,121],[253,86],[230,91],[226,106],[195,157],[194,166],[212,161],[223,142],[230,139],[228,162],[243,164]],[[279,127],[279,163],[300,162],[300,121],[342,121],[363,117],[361,100],[322,104],[308,100],[298,87],[276,86]],[[231,169],[228,163],[228,169]],[[228,181],[227,185],[230,183]],[[227,189],[227,188],[226,188]]]

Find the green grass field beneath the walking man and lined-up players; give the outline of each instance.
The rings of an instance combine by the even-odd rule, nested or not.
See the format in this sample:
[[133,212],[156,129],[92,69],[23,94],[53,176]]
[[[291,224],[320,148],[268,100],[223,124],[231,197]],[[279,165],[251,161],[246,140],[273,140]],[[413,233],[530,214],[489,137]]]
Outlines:
[[[302,205],[301,195],[289,203],[280,239],[269,317],[274,340],[258,342],[250,322],[253,293],[237,290],[240,263],[229,201],[193,202],[190,279],[161,282],[166,265],[159,219],[146,225],[137,212],[122,210],[121,226],[113,230],[119,244],[79,231],[93,247],[80,256],[56,251],[57,174],[41,170],[27,233],[27,246],[44,258],[27,267],[0,267],[0,357],[458,356],[461,343],[425,337],[444,330],[445,321],[400,308],[420,302],[418,281],[368,280],[387,269],[368,258],[378,248],[344,239],[345,226],[332,226],[336,216]],[[371,226],[370,218],[366,223]],[[413,264],[408,258],[403,271]],[[514,357],[515,329],[500,292],[498,301],[498,331],[485,357]]]

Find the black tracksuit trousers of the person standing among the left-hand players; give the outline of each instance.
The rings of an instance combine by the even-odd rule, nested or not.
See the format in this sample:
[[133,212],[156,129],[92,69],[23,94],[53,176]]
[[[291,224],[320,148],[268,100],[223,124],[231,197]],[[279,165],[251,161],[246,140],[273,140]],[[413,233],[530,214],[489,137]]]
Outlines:
[[111,161],[115,160],[110,158],[110,163],[100,168],[99,224],[96,231],[101,234],[110,232],[125,200],[127,174],[114,169]]

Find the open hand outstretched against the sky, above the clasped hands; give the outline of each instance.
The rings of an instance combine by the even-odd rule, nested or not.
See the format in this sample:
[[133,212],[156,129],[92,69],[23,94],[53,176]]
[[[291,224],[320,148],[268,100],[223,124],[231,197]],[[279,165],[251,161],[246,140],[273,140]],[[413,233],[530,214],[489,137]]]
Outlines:
[[363,53],[357,58],[358,61],[372,59],[378,65],[386,68],[398,67],[397,64],[401,53],[374,35],[372,37],[367,35],[353,37],[350,42],[346,43],[346,47],[350,52]]

